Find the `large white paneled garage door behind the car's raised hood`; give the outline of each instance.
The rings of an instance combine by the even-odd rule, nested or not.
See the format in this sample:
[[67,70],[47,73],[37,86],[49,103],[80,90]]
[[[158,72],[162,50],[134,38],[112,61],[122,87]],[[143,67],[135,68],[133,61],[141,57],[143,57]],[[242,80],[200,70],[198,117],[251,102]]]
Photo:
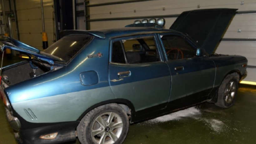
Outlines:
[[[120,2],[127,0],[89,0],[89,4]],[[255,10],[256,0],[149,0],[105,6],[89,7],[90,19],[104,19],[117,17],[143,17],[180,14],[183,11],[206,8],[238,8],[238,11]],[[131,24],[136,19],[111,20],[90,22],[91,29],[119,28]],[[165,28],[169,28],[176,17],[166,18]],[[84,18],[80,18],[83,23]],[[79,23],[79,22],[78,22]],[[80,24],[81,25],[81,24]],[[84,27],[80,27],[84,29]],[[239,32],[238,32],[239,30]],[[228,27],[224,38],[256,38],[256,13],[237,14]],[[256,66],[255,41],[222,41],[216,53],[229,55],[243,55],[248,58],[248,65]],[[248,81],[256,82],[256,68],[248,68]]]

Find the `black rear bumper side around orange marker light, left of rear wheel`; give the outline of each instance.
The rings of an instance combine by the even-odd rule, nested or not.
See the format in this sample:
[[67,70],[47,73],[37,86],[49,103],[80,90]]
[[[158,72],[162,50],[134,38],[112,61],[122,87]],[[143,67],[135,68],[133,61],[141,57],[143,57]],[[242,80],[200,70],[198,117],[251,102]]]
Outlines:
[[[14,133],[18,144],[60,144],[76,140],[77,122],[56,123],[56,125],[20,130]],[[54,139],[41,139],[40,136],[58,132]]]

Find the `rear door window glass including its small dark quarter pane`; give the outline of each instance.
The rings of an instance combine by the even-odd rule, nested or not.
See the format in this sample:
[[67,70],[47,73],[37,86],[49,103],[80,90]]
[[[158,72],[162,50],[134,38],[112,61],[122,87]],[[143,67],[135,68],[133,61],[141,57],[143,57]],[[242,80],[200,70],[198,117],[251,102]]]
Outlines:
[[126,63],[125,57],[128,64],[160,61],[154,37],[113,42],[112,62]]

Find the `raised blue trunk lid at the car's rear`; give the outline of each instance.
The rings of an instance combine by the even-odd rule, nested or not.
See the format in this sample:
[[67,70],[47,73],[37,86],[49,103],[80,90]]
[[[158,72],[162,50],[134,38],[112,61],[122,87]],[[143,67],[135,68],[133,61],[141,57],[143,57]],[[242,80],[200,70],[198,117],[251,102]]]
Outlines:
[[15,40],[13,38],[10,37],[4,37],[1,36],[0,37],[0,50],[1,52],[4,51],[4,49],[11,49],[11,50],[15,50],[18,52],[22,52],[22,53],[27,53],[27,54],[32,54],[36,57],[39,58],[43,58],[43,59],[48,59],[48,60],[53,60],[53,61],[61,61],[61,62],[65,62],[65,60],[63,60],[62,58],[53,56],[51,54],[45,53],[45,52],[41,52],[39,49],[31,47],[23,42],[20,42],[18,40]]

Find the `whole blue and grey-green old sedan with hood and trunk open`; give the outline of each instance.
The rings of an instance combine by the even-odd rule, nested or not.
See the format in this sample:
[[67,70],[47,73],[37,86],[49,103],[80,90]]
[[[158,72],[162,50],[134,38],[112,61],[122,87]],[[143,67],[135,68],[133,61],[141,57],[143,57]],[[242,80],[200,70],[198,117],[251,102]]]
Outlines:
[[129,124],[202,102],[231,107],[243,56],[214,49],[237,9],[183,12],[156,23],[66,30],[41,52],[10,37],[0,48],[28,60],[1,68],[0,94],[19,144],[121,144]]

